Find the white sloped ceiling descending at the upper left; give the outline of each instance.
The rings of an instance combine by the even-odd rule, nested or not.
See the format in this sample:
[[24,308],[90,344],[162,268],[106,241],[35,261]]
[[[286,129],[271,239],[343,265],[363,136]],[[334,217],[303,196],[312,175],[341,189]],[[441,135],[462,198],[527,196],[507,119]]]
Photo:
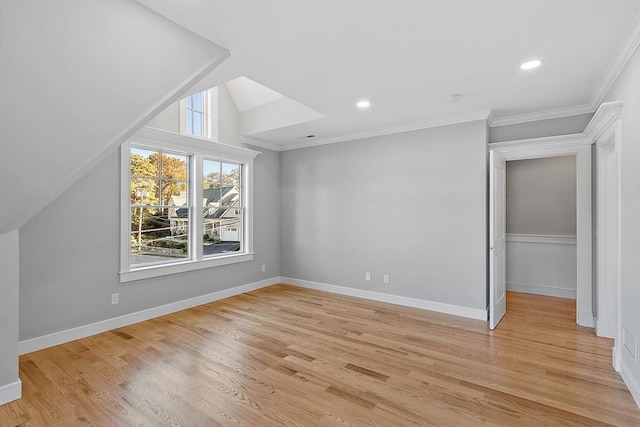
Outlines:
[[[228,51],[133,0],[0,2],[0,234],[19,228]],[[100,195],[95,195],[97,208]]]

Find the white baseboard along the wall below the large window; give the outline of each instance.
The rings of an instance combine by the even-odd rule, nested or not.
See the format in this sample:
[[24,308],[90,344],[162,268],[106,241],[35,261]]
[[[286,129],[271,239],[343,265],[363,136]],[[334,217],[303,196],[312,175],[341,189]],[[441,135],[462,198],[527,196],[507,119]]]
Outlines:
[[112,319],[102,320],[100,322],[90,323],[88,325],[79,326],[77,328],[67,329],[65,331],[54,332],[52,334],[41,337],[31,338],[20,341],[18,351],[20,354],[31,353],[33,351],[42,350],[43,348],[53,347],[54,345],[63,344],[80,338],[110,331],[112,329],[121,328],[123,326],[132,325],[144,320],[153,319],[166,314],[175,313],[177,311],[186,310],[198,305],[207,304],[218,301],[234,295],[245,292],[251,292],[256,289],[265,288],[267,286],[280,283],[280,277],[261,280],[259,282],[249,283],[246,285],[236,286],[222,291],[212,292],[210,294],[189,298],[182,301],[176,301],[169,304],[153,307],[135,313],[125,314],[123,316],[114,317]]

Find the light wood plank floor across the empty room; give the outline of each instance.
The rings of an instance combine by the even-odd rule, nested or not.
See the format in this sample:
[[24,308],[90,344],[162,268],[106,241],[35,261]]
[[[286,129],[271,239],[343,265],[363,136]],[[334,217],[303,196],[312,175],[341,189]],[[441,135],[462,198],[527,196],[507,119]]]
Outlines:
[[640,426],[575,301],[486,322],[286,285],[24,355],[2,426]]

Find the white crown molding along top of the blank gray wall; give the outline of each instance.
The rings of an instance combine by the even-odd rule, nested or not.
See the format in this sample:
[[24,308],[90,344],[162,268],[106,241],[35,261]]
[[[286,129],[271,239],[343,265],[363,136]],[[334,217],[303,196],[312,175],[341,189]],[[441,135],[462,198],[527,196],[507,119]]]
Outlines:
[[421,120],[417,122],[404,123],[397,126],[389,126],[386,128],[375,129],[366,132],[355,132],[351,134],[341,135],[333,138],[319,138],[314,141],[304,142],[302,144],[291,143],[283,145],[281,150],[295,150],[297,148],[315,147],[318,145],[335,144],[337,142],[353,141],[356,139],[373,138],[376,136],[391,135],[395,133],[410,132],[420,129],[429,129],[440,126],[455,125],[459,123],[473,122],[477,120],[487,120],[491,110],[479,110],[469,113],[456,114],[437,119]]

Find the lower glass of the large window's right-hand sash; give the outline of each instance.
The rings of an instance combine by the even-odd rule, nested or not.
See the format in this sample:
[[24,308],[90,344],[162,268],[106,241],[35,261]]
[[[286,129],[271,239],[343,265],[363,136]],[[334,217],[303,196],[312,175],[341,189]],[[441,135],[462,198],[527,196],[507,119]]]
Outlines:
[[[204,235],[202,236],[202,253],[204,256],[216,256],[240,251],[242,240],[242,219],[211,216],[212,209],[203,213]],[[222,209],[213,209],[219,213]]]

